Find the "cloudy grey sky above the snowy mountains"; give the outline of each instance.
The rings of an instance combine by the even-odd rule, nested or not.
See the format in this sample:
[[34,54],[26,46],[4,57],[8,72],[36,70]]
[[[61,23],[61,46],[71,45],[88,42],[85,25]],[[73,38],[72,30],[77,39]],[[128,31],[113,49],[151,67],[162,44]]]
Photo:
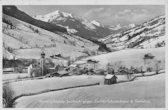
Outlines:
[[164,5],[17,5],[29,15],[45,15],[56,10],[72,13],[103,25],[141,24],[165,14]]

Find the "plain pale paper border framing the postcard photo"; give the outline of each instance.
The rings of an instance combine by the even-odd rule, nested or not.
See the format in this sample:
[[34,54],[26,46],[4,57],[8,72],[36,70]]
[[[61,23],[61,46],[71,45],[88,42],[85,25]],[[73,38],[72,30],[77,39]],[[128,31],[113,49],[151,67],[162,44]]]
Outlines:
[[[167,45],[167,40],[168,40],[168,36],[167,36],[167,32],[168,32],[168,28],[167,28],[167,21],[168,21],[168,17],[167,17],[167,14],[168,14],[168,0],[1,0],[0,1],[0,11],[1,11],[1,14],[0,14],[0,18],[1,18],[1,21],[2,21],[2,6],[3,5],[165,5],[165,16],[166,16],[166,33],[165,33],[165,36],[166,36],[166,47],[165,47],[165,51],[166,51],[166,72],[168,70],[168,66],[167,66],[167,63],[168,63],[168,59],[167,59],[167,56],[168,56],[168,45]],[[0,29],[2,30],[2,22],[0,22]],[[1,33],[1,36],[2,36],[2,31],[0,32]],[[1,39],[2,41],[2,39]],[[2,58],[2,42],[0,42],[0,45],[1,45],[1,49],[0,49],[0,57]],[[2,61],[0,63],[0,66],[2,67]],[[3,73],[2,71],[2,68],[0,69],[1,70],[1,73]],[[2,74],[0,76],[2,78]],[[168,75],[165,74],[165,77],[166,77],[166,81],[165,81],[165,87],[166,87],[166,91],[165,91],[165,98],[166,98],[166,102],[165,102],[165,106],[166,108],[163,108],[163,109],[167,109],[168,107]],[[2,79],[0,81],[1,83],[1,88],[0,88],[0,91],[2,93]],[[0,95],[0,98],[2,99],[2,95]],[[2,108],[2,100],[0,100],[0,107]],[[68,108],[70,109],[70,108]],[[76,108],[78,109],[78,108]],[[88,108],[88,109],[99,109],[99,108]],[[111,108],[110,108],[111,109]],[[117,109],[117,108],[112,108],[112,109]],[[127,109],[127,110],[130,110],[130,108],[124,108],[124,109]],[[135,109],[135,108],[131,108],[131,109]],[[137,109],[137,108],[136,108]],[[139,110],[140,109],[150,109],[150,108],[138,108]],[[153,108],[152,108],[153,109]],[[64,109],[63,109],[64,110]],[[158,109],[157,109],[158,110]]]

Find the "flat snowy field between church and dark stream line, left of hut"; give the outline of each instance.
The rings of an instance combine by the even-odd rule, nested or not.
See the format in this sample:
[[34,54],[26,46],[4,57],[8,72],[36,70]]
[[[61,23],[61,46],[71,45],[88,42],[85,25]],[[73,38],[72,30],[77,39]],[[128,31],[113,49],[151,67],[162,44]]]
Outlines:
[[[74,87],[86,84],[94,84],[103,81],[103,76],[67,76],[67,77],[53,77],[39,80],[25,80],[11,83],[11,86],[16,91],[16,96],[25,93],[36,93],[43,90],[61,89],[65,87]],[[25,88],[26,87],[26,88]]]

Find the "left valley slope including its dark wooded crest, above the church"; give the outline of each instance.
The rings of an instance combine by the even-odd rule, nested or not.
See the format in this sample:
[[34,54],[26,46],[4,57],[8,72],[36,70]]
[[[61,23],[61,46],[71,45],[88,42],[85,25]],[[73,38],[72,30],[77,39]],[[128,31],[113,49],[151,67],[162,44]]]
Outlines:
[[4,6],[2,17],[4,59],[39,59],[44,51],[47,58],[56,56],[53,60],[64,64],[63,58],[77,60],[106,52],[103,43],[69,35],[66,28],[36,20],[15,6]]

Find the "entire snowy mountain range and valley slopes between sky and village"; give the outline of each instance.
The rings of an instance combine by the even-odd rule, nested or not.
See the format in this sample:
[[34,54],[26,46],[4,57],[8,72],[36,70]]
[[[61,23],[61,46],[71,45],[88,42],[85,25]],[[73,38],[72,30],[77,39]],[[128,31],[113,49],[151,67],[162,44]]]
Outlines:
[[41,50],[48,56],[82,57],[100,51],[156,48],[165,45],[165,16],[141,25],[105,26],[59,10],[30,16],[16,6],[3,6],[3,44],[12,55],[26,58],[37,58]]

